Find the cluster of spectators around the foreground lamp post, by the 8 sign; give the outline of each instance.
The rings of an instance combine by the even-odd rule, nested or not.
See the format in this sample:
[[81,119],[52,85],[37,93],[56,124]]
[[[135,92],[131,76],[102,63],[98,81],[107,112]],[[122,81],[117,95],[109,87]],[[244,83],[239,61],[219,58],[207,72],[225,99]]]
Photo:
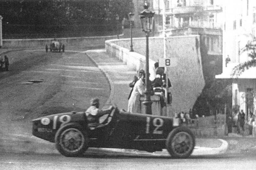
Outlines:
[[[156,69],[156,78],[153,81],[149,81],[150,87],[151,87],[150,89],[151,95],[154,95],[154,93],[157,90],[160,90],[159,92],[164,92],[163,88],[166,88],[164,69],[159,67],[158,62],[155,63],[155,69]],[[129,84],[132,90],[128,97],[129,101],[128,101],[127,112],[141,113],[140,97],[144,97],[145,77],[146,77],[145,71],[138,70],[137,75],[134,76],[133,81]],[[168,87],[172,87],[169,78],[168,78]],[[169,96],[170,95],[168,94],[167,95],[168,103],[170,103],[171,101]],[[161,104],[161,107],[164,107],[166,105],[164,102],[163,96],[160,96],[160,104]]]

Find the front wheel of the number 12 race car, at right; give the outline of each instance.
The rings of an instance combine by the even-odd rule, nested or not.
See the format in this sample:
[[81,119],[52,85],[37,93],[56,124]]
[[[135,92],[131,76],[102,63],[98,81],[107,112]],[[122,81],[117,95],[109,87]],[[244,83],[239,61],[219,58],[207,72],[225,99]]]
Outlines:
[[193,132],[186,127],[173,129],[166,140],[166,149],[172,157],[187,158],[195,147]]

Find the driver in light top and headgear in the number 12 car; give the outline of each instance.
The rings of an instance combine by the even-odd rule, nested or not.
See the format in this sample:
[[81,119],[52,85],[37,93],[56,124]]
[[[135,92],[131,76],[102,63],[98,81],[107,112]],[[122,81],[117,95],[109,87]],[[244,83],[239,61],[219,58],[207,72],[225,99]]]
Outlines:
[[85,114],[88,120],[88,123],[99,123],[99,118],[105,114],[109,114],[110,110],[101,110],[100,100],[98,98],[93,98],[90,101],[91,106],[86,110]]

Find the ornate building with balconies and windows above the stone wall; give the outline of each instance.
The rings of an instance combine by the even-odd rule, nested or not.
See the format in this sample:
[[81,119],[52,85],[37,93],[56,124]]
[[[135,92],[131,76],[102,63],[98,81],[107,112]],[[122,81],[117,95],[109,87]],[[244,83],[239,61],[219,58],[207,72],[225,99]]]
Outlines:
[[[153,0],[155,32],[163,32],[164,0]],[[222,55],[221,0],[165,0],[166,32],[169,35],[199,34],[208,54]]]

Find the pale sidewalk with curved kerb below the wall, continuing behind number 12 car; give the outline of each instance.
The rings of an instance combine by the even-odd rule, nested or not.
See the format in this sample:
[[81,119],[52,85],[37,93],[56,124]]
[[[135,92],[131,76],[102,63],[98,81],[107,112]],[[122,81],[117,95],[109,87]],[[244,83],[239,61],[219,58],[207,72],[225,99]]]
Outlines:
[[[131,88],[129,83],[132,82],[133,76],[136,71],[128,70],[127,66],[123,64],[118,58],[111,58],[107,55],[105,49],[88,50],[86,54],[92,59],[92,61],[98,65],[100,70],[107,76],[111,92],[109,100],[106,104],[116,104],[116,106],[122,110],[127,110],[128,95]],[[207,155],[224,153],[228,148],[228,143],[225,140],[220,139],[196,139],[196,147],[192,155]],[[106,149],[107,151],[108,149]],[[111,150],[115,152],[126,152],[128,150]],[[128,152],[127,152],[128,151]],[[149,154],[149,155],[167,155],[168,152],[163,150],[162,152],[148,153],[144,151],[136,151],[136,154]]]

